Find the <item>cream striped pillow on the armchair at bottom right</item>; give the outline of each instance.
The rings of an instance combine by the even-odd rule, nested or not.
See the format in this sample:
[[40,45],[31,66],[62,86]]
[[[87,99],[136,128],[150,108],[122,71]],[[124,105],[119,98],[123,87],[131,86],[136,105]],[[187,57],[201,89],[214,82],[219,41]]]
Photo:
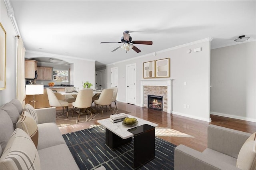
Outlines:
[[256,132],[244,142],[237,157],[236,167],[243,170],[256,169]]

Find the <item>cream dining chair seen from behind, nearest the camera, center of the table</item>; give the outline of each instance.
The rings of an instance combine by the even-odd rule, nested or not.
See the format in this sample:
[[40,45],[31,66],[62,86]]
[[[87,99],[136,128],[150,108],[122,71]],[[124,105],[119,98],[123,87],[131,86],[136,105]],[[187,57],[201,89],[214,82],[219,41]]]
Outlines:
[[[73,111],[72,111],[72,117],[74,114],[74,108],[78,108],[78,122],[81,114],[81,109],[86,108],[89,109],[92,117],[92,111],[91,111],[91,105],[92,105],[92,89],[82,89],[78,92],[78,95],[76,97],[76,101],[72,103],[73,105]],[[85,110],[85,112],[86,112]]]

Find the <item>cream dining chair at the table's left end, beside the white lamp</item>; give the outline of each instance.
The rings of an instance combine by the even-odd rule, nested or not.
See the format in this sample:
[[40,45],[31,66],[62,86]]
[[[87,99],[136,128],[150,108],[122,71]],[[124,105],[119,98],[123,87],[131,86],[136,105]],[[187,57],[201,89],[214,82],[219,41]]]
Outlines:
[[49,100],[49,104],[51,107],[62,107],[62,113],[64,114],[64,107],[67,108],[67,118],[68,118],[68,105],[69,103],[67,101],[64,100],[59,100],[56,97],[56,94],[58,93],[53,93],[52,89],[46,88],[47,91],[47,95],[48,95],[48,100]]

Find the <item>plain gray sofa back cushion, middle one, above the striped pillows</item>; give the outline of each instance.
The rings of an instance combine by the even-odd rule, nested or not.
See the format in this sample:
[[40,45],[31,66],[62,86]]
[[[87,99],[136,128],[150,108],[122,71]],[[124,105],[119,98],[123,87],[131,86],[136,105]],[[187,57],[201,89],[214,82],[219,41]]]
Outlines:
[[16,123],[20,118],[20,113],[18,112],[16,106],[12,103],[6,103],[3,107],[1,107],[1,110],[4,110],[6,111],[6,113],[8,113],[9,117],[12,120],[13,128],[15,129]]

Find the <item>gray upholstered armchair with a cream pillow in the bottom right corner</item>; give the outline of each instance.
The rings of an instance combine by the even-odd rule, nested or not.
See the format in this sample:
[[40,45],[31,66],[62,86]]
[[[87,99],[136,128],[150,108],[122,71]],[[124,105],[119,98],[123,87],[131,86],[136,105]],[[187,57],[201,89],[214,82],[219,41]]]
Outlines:
[[175,170],[255,170],[255,133],[208,126],[208,148],[198,152],[180,144],[174,151]]

